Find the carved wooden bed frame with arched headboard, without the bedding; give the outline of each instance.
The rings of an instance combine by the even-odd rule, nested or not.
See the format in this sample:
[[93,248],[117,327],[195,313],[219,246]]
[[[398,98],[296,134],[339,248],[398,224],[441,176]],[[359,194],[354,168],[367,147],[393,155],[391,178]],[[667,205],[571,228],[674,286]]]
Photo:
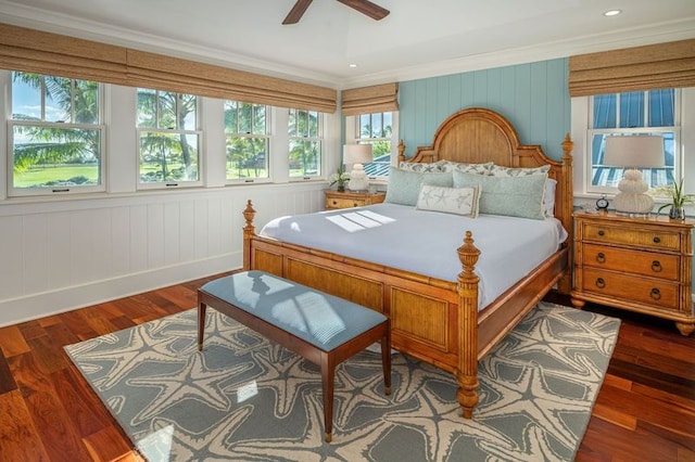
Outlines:
[[[557,180],[555,217],[572,231],[572,142],[561,143],[561,162],[548,158],[539,145],[522,145],[514,127],[500,114],[468,108],[438,128],[431,146],[418,147],[408,162],[494,162],[509,167],[549,164]],[[399,159],[405,159],[399,146]],[[244,210],[244,270],[257,269],[290,279],[372,308],[391,319],[393,348],[455,374],[457,400],[466,419],[478,403],[478,360],[482,358],[557,284],[569,292],[569,245],[478,310],[476,262],[480,251],[468,231],[457,252],[462,271],[457,282],[429,278],[332,253],[278,242],[256,234],[255,210]],[[422,231],[424,233],[426,230]]]

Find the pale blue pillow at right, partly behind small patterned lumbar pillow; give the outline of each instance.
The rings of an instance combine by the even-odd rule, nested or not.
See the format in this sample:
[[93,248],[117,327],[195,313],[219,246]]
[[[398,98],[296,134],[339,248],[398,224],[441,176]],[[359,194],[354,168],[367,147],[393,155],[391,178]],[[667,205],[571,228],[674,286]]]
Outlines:
[[454,170],[454,188],[479,185],[479,211],[508,217],[545,218],[543,194],[547,175],[492,177]]

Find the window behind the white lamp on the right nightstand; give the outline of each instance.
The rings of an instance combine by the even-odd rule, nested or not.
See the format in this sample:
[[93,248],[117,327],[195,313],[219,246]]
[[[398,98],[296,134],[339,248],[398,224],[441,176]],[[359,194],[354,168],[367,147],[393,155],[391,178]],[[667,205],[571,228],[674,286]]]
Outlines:
[[680,178],[680,90],[649,90],[601,94],[590,101],[587,192],[610,193],[622,179],[622,167],[604,164],[607,136],[658,134],[664,138],[662,168],[641,168],[649,188],[666,187]]

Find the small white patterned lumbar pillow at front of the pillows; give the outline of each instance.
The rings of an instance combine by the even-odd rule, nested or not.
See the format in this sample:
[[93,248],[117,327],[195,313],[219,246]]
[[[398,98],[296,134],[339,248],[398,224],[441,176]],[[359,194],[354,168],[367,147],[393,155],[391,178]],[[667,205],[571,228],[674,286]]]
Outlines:
[[480,188],[445,188],[422,184],[416,208],[476,218]]

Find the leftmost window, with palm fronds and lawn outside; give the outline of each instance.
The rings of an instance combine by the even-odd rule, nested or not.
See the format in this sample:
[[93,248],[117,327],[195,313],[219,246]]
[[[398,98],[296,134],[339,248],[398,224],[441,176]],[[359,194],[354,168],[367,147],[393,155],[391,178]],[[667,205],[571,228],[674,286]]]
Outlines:
[[101,87],[12,73],[9,195],[104,191]]

